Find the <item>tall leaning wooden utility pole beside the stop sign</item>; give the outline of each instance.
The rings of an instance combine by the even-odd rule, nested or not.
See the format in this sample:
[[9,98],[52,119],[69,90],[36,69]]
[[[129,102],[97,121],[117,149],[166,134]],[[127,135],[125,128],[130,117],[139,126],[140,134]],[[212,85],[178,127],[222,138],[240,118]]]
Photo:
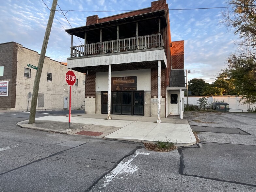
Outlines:
[[46,49],[47,49],[47,44],[48,44],[49,36],[50,36],[50,33],[51,33],[51,28],[52,28],[52,24],[53,24],[53,19],[54,19],[56,6],[57,6],[57,0],[53,0],[50,16],[49,16],[47,27],[46,27],[46,30],[45,30],[43,45],[42,45],[42,49],[41,49],[41,53],[40,53],[40,57],[39,57],[38,70],[37,70],[35,81],[34,81],[34,87],[33,87],[33,94],[32,94],[32,99],[31,99],[31,107],[30,107],[30,114],[29,114],[28,123],[35,123],[40,77],[41,77],[41,74],[42,74],[45,52],[46,52]]

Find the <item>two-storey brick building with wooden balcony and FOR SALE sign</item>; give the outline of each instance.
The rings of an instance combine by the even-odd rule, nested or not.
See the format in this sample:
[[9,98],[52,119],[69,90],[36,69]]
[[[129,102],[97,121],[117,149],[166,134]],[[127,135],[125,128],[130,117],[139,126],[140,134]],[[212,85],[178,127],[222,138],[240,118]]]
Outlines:
[[86,73],[85,113],[183,115],[184,41],[171,41],[168,4],[105,18],[67,29],[84,44],[73,46],[68,68]]

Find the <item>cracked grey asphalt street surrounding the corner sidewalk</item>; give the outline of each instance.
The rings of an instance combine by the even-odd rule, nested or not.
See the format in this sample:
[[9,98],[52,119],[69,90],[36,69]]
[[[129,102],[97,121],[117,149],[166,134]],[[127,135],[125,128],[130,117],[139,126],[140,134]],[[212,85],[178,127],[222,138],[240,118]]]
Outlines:
[[[48,113],[68,111],[36,117]],[[28,116],[0,113],[0,191],[256,191],[256,114],[184,114],[195,129],[206,127],[199,132],[201,142],[163,153],[141,143],[16,125]],[[208,132],[209,127],[250,135]]]

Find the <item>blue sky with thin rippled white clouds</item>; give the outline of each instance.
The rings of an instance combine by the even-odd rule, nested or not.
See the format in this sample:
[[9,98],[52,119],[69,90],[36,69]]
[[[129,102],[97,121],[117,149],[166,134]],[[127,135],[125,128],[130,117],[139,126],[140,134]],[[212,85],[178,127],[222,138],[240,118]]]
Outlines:
[[[169,9],[226,7],[224,0],[167,0]],[[84,26],[86,17],[99,18],[151,7],[151,0],[59,0],[65,13],[56,11],[46,56],[60,62],[70,57],[71,36],[65,29]],[[0,4],[0,43],[15,41],[40,53],[52,0],[5,0]],[[57,6],[57,10],[60,10]],[[76,10],[76,11],[69,11]],[[114,11],[112,11],[114,10]],[[188,80],[202,78],[212,83],[238,40],[232,30],[220,24],[225,8],[170,10],[171,40],[184,40],[184,69]],[[67,12],[68,11],[68,12]],[[86,11],[86,12],[84,12]],[[71,26],[72,27],[71,27]],[[81,42],[83,42],[81,40]],[[74,45],[80,45],[74,38]]]

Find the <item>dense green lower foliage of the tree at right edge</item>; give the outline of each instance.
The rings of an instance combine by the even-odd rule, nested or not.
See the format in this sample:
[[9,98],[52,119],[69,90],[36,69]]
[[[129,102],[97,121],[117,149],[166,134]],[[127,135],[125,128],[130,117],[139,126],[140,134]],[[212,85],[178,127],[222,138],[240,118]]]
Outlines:
[[[252,58],[239,58],[235,55],[229,58],[225,70],[233,80],[243,103],[256,103],[256,62]],[[241,99],[241,100],[242,100]]]

